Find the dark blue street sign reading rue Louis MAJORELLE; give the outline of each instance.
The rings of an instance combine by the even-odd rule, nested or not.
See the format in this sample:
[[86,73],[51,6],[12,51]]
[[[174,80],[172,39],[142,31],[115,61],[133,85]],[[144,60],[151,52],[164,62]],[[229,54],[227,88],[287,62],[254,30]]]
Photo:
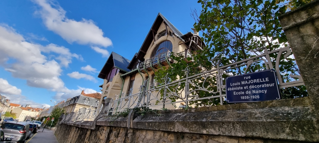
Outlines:
[[273,69],[226,78],[226,101],[229,103],[275,99],[280,99],[280,92]]

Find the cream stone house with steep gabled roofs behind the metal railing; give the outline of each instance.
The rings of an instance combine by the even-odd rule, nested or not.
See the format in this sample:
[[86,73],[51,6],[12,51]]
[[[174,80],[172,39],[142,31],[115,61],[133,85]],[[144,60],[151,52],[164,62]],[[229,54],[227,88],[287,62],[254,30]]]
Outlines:
[[[146,89],[160,85],[161,83],[155,80],[154,73],[158,68],[168,67],[175,62],[167,58],[172,52],[181,53],[186,60],[186,57],[191,58],[191,51],[201,50],[202,45],[204,43],[197,31],[182,34],[159,13],[140,50],[131,60],[115,52],[111,53],[98,75],[98,78],[104,80],[103,85],[100,86],[102,87],[101,100],[105,98],[115,100],[137,94],[140,92],[141,85],[145,85]],[[166,106],[166,108],[175,109],[176,106],[180,105]]]

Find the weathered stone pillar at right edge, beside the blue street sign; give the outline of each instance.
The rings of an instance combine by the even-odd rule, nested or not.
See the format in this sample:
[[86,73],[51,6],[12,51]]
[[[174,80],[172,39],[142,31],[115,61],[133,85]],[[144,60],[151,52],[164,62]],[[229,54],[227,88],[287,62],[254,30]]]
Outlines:
[[319,0],[278,18],[319,119]]

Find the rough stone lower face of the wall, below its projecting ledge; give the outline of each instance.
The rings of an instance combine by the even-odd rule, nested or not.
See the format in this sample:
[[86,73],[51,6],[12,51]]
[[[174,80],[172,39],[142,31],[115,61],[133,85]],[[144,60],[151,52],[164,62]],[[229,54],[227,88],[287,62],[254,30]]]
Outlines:
[[[63,135],[62,135],[63,134]],[[297,143],[197,133],[128,129],[125,127],[97,126],[96,130],[63,124],[56,131],[59,143]]]

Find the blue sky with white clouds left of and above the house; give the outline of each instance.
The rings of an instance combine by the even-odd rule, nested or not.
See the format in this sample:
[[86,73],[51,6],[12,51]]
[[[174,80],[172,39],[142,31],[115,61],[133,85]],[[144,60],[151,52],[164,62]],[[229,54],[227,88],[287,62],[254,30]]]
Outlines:
[[112,51],[131,59],[158,13],[183,34],[195,23],[185,1],[0,1],[0,94],[33,107],[99,91]]

